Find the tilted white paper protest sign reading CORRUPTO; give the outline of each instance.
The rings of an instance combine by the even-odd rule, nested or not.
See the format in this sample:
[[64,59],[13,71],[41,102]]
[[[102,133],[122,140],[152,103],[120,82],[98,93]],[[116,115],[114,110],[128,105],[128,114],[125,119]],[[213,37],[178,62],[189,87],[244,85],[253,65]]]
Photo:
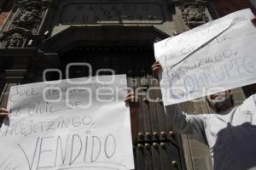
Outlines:
[[243,9],[154,44],[164,105],[256,82],[256,27]]

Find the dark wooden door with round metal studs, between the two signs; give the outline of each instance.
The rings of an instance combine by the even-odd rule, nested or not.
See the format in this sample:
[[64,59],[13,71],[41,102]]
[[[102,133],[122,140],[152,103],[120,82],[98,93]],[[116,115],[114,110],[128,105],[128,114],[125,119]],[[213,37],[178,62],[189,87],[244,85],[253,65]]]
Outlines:
[[[66,66],[73,62],[90,63],[94,75],[98,69],[104,68],[112,69],[115,74],[126,74],[128,86],[139,94],[139,113],[131,119],[137,170],[185,169],[180,136],[172,132],[161,102],[159,82],[151,76],[153,48],[75,48],[61,56],[62,70],[65,71]],[[87,74],[82,66],[70,70],[72,78],[84,77]],[[158,88],[153,89],[154,87]],[[154,102],[146,97],[147,94]]]

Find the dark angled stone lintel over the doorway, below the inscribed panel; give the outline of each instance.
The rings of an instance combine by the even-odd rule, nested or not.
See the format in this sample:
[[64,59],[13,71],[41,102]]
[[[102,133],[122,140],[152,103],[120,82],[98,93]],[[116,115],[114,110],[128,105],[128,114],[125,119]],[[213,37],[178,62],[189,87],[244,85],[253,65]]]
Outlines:
[[[154,26],[55,26],[52,36],[42,43],[46,53],[63,54],[76,46],[152,46],[169,37]],[[117,44],[119,43],[119,44]]]

